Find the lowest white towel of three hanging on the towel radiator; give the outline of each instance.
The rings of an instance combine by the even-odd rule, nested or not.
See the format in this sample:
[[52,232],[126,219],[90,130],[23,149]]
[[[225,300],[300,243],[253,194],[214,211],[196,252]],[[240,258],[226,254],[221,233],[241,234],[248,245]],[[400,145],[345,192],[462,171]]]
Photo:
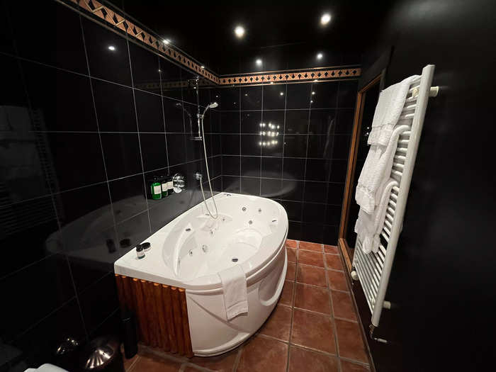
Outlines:
[[373,213],[368,214],[363,209],[359,211],[359,218],[356,219],[355,232],[357,239],[361,242],[363,253],[377,252],[381,244],[381,231],[388,210],[388,201],[391,188],[398,186],[398,181],[387,179],[378,188],[378,205]]

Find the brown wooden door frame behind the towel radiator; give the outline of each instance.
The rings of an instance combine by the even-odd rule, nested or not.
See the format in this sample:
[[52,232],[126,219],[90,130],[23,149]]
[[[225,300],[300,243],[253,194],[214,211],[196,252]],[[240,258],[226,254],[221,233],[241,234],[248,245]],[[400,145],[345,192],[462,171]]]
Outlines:
[[341,210],[341,222],[339,224],[339,235],[337,244],[339,249],[344,257],[344,261],[346,262],[346,266],[348,267],[348,271],[351,272],[351,258],[349,257],[349,246],[346,242],[346,227],[348,227],[348,215],[349,215],[349,206],[352,203],[352,191],[354,184],[354,174],[356,168],[356,154],[359,148],[359,138],[360,138],[360,127],[361,127],[361,119],[363,116],[363,106],[365,103],[366,93],[368,89],[371,89],[372,86],[376,84],[381,84],[381,80],[385,75],[385,71],[383,70],[381,74],[378,74],[371,81],[363,86],[362,89],[359,90],[356,96],[356,107],[355,107],[355,115],[354,115],[354,123],[353,123],[353,133],[351,134],[351,145],[348,157],[348,170],[346,171],[346,184],[344,186],[344,198],[343,198],[343,207]]

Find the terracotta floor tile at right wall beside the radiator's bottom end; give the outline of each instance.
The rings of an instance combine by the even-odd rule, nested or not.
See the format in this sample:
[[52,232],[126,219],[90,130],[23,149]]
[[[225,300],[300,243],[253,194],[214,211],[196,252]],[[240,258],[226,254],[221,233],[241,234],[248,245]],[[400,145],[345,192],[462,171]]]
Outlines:
[[339,355],[368,363],[358,323],[335,319]]

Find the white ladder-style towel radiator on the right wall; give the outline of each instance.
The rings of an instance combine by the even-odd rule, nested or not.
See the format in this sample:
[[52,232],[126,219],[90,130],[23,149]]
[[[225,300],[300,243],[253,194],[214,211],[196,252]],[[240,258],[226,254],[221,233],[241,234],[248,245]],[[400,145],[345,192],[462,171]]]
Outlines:
[[373,329],[379,325],[383,308],[390,308],[390,303],[385,301],[384,297],[388,288],[398,237],[400,237],[402,230],[403,215],[405,214],[415,158],[422,134],[422,125],[424,125],[427,101],[429,96],[436,96],[439,91],[437,86],[431,87],[433,75],[434,64],[428,64],[422,69],[422,76],[410,84],[410,90],[400,116],[398,124],[410,125],[410,130],[402,133],[398,138],[391,178],[397,180],[400,186],[395,186],[391,190],[388,210],[381,232],[383,239],[381,239],[378,252],[363,253],[361,242],[356,239],[353,257],[356,274],[352,272],[351,276],[354,278],[358,276],[357,279],[361,283],[368,308],[372,313],[371,338],[378,342],[387,342],[385,339],[373,337]]

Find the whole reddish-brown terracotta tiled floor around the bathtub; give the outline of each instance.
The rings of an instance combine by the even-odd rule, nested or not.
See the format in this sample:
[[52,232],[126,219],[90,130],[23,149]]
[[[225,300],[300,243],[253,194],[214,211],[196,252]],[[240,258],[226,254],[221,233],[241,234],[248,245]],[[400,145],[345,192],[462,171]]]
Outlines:
[[186,359],[140,347],[128,372],[369,371],[353,300],[337,247],[286,242],[288,273],[278,305],[259,332],[237,349]]

